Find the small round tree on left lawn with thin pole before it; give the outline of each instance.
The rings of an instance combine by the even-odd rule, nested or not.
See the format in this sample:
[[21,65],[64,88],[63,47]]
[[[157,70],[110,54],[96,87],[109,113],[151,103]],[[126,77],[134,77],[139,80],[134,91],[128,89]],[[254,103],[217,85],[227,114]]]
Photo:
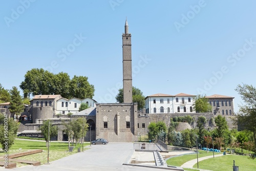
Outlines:
[[39,130],[41,131],[41,134],[44,136],[46,142],[51,141],[51,138],[49,139],[49,125],[50,125],[50,137],[54,137],[58,134],[58,127],[57,125],[53,125],[51,120],[45,120],[42,122],[42,125],[40,126]]

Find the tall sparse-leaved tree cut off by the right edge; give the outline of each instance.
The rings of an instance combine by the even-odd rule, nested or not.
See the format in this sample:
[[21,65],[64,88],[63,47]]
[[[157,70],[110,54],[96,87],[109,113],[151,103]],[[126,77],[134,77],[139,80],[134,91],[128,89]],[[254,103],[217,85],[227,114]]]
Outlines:
[[[253,133],[254,148],[253,153],[256,157],[256,88],[248,84],[239,84],[235,89],[245,105],[241,105],[237,115],[237,123],[243,130],[249,130]],[[254,157],[252,157],[254,159]]]

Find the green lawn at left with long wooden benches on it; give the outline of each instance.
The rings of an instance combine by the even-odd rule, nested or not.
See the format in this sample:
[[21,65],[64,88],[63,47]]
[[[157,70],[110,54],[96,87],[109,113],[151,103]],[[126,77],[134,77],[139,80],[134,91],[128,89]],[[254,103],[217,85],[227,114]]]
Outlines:
[[[83,150],[86,150],[86,146],[90,145],[90,143],[83,144]],[[74,151],[69,152],[68,142],[51,142],[49,148],[49,162],[58,160],[60,158],[70,156],[72,154],[77,153],[77,148],[81,147],[82,144],[77,144],[74,148]],[[33,155],[18,157],[17,159],[25,159],[25,160],[36,160],[40,161],[41,164],[47,163],[48,159],[48,150],[46,147],[46,141],[28,141],[28,140],[15,140],[15,143],[9,149],[9,154],[25,152],[30,149],[43,149],[42,153],[37,153]],[[4,156],[5,153],[1,152],[0,156]],[[24,166],[26,164],[17,163],[17,167]]]

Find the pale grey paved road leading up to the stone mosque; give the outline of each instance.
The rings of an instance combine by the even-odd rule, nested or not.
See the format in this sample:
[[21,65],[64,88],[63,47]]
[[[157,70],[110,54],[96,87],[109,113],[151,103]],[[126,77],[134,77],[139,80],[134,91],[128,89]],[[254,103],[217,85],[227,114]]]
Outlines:
[[[75,149],[77,150],[77,149]],[[159,170],[138,166],[122,165],[128,163],[133,155],[133,143],[109,143],[107,145],[92,145],[90,149],[40,166],[26,166],[12,170]],[[36,160],[36,159],[35,159]],[[163,169],[161,169],[163,170]]]

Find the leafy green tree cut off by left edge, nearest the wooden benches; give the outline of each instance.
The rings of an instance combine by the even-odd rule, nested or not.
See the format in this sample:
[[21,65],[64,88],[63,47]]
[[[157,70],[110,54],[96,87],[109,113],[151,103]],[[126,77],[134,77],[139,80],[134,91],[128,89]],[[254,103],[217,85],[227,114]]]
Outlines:
[[18,124],[12,118],[0,113],[0,143],[7,152],[17,137]]

